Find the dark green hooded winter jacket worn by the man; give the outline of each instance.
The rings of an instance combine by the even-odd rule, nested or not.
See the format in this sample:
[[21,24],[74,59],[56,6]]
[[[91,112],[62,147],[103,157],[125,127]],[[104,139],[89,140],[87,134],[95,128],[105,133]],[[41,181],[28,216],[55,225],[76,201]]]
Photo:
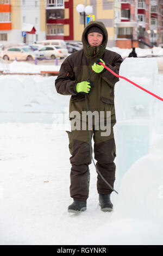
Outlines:
[[[99,26],[103,33],[103,42],[100,46],[92,47],[87,42],[86,32],[91,26]],[[70,99],[71,111],[87,111],[85,95],[77,93],[77,83],[87,81],[92,71],[92,64],[99,58],[105,65],[118,74],[123,61],[120,54],[106,50],[108,32],[102,22],[91,21],[87,24],[82,35],[83,50],[68,56],[62,63],[59,75],[55,80],[57,92],[64,95],[72,95]],[[87,94],[90,111],[111,111],[111,120],[116,121],[114,108],[114,86],[118,78],[104,69],[101,73],[91,75],[91,83],[94,87]]]

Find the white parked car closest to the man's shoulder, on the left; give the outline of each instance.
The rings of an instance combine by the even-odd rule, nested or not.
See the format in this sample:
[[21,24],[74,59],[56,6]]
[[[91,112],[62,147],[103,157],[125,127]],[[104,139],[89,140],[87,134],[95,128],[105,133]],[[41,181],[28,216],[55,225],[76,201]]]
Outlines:
[[66,48],[61,48],[60,46],[53,46],[53,45],[48,45],[45,47],[42,47],[39,52],[42,52],[43,55],[46,58],[52,58],[55,59],[57,58],[64,58],[68,56],[68,51]]

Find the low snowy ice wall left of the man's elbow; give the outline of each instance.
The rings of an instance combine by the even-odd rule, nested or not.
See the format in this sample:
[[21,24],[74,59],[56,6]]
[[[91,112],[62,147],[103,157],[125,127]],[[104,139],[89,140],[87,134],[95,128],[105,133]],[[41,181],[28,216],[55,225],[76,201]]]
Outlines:
[[0,78],[1,112],[57,112],[68,105],[70,96],[63,97],[55,89],[56,77]]

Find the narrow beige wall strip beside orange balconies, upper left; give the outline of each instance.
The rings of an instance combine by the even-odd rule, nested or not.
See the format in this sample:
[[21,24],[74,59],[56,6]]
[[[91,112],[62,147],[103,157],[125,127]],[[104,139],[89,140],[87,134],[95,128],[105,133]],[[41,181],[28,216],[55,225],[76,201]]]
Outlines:
[[21,29],[21,0],[11,0],[12,29]]

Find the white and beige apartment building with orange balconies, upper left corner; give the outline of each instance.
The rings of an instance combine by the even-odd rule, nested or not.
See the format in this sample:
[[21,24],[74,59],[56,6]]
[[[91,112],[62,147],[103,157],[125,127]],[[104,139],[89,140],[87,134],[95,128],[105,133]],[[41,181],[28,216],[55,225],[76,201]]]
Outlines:
[[46,39],[44,0],[0,0],[0,41],[3,45]]

